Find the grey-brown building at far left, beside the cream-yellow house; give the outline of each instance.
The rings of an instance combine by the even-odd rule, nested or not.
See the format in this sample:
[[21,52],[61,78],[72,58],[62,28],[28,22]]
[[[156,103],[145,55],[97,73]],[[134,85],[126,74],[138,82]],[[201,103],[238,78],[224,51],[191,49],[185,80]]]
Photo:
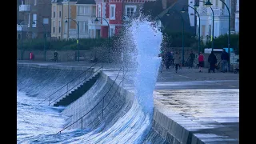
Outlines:
[[[17,31],[22,38],[44,38],[50,36],[50,0],[22,0],[18,7]],[[25,36],[25,37],[24,37]]]

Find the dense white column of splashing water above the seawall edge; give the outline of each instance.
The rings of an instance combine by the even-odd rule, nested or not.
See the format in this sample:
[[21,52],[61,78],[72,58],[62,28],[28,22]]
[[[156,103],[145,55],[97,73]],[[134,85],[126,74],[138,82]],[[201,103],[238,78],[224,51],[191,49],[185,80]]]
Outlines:
[[130,31],[137,51],[138,66],[134,78],[135,95],[138,98],[138,103],[142,105],[142,109],[146,113],[152,114],[154,108],[153,91],[161,62],[158,54],[161,48],[162,33],[145,18],[138,18],[133,21]]

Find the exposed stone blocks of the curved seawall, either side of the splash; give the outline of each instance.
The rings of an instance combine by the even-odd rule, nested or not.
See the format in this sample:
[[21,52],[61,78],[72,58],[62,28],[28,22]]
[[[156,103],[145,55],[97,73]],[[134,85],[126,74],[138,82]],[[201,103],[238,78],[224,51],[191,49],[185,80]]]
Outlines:
[[[40,98],[45,98],[57,90],[58,87],[63,86],[78,74],[81,74],[82,70],[87,69],[87,67],[43,66],[36,64],[18,64],[17,68],[17,89]],[[122,74],[114,83],[109,94],[106,94],[114,82],[117,73],[117,70],[114,73],[102,71],[101,77],[86,94],[83,94],[77,101],[66,106],[62,114],[70,117],[66,119],[67,125],[69,125],[99,103],[90,114],[83,118],[83,123],[77,122],[70,128],[80,129],[82,126],[83,129],[94,130],[101,126],[102,130],[107,130],[118,121],[118,118],[123,117],[132,109],[134,104],[134,87],[124,86],[122,88],[118,86],[122,80]],[[103,110],[102,118],[103,101],[101,99],[105,94],[104,107],[106,109]],[[107,104],[108,106],[106,106]],[[198,127],[202,128],[198,122],[185,118],[174,110],[166,110],[161,102],[154,100],[152,127],[144,143],[206,143],[202,142],[202,136],[198,137],[198,135],[192,133]]]

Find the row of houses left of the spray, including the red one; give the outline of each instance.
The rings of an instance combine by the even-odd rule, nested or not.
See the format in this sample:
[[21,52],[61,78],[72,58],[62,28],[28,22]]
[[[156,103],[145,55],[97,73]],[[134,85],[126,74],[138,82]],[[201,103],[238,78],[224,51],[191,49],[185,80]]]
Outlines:
[[107,38],[109,34],[111,37],[126,26],[144,2],[154,1],[20,0],[18,38],[21,34],[23,38]]

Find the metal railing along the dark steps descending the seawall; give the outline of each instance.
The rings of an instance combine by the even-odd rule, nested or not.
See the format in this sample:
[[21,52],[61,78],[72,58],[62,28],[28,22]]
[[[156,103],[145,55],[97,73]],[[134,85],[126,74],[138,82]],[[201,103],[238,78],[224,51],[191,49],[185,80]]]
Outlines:
[[[94,63],[93,66],[97,65],[98,63],[99,63],[99,62]],[[58,96],[58,95],[56,96],[56,95],[54,95],[54,94],[59,94],[58,92],[61,92],[61,91],[63,91],[63,90],[64,90],[65,92],[62,93],[61,96],[58,97],[58,98],[61,98],[61,97],[64,96],[64,95],[67,96],[67,95],[69,94],[68,92],[69,92],[70,90],[74,90],[74,88],[76,88],[76,86],[78,86],[78,85],[81,84],[82,82],[85,82],[87,78],[90,78],[91,75],[95,74],[95,73],[98,71],[98,70],[95,71],[93,74],[90,74],[90,76],[86,78],[86,72],[87,72],[88,70],[91,70],[91,68],[92,68],[93,66],[90,66],[90,68],[86,69],[86,70],[83,71],[81,74],[79,74],[77,77],[73,78],[70,82],[66,83],[66,85],[64,85],[64,86],[62,86],[61,88],[59,88],[58,90],[56,90],[53,94],[50,94],[50,96],[48,96],[47,98],[45,98],[44,100],[42,100],[42,102],[45,102],[46,99],[49,98],[48,106],[50,106],[50,104],[53,103],[53,102],[50,102],[50,101],[51,101],[52,99],[54,99],[55,97]],[[102,68],[102,66],[101,66],[101,68]],[[91,73],[92,73],[92,71],[91,71]],[[81,77],[82,77],[82,81],[81,81]],[[76,80],[76,81],[75,81],[75,80]],[[76,84],[74,84],[74,85],[72,86],[72,82],[78,82],[78,83],[76,83]],[[58,99],[58,98],[57,98],[57,99]],[[55,99],[54,102],[55,102],[57,99]],[[41,104],[42,102],[40,102],[40,103],[38,103],[38,104]]]

